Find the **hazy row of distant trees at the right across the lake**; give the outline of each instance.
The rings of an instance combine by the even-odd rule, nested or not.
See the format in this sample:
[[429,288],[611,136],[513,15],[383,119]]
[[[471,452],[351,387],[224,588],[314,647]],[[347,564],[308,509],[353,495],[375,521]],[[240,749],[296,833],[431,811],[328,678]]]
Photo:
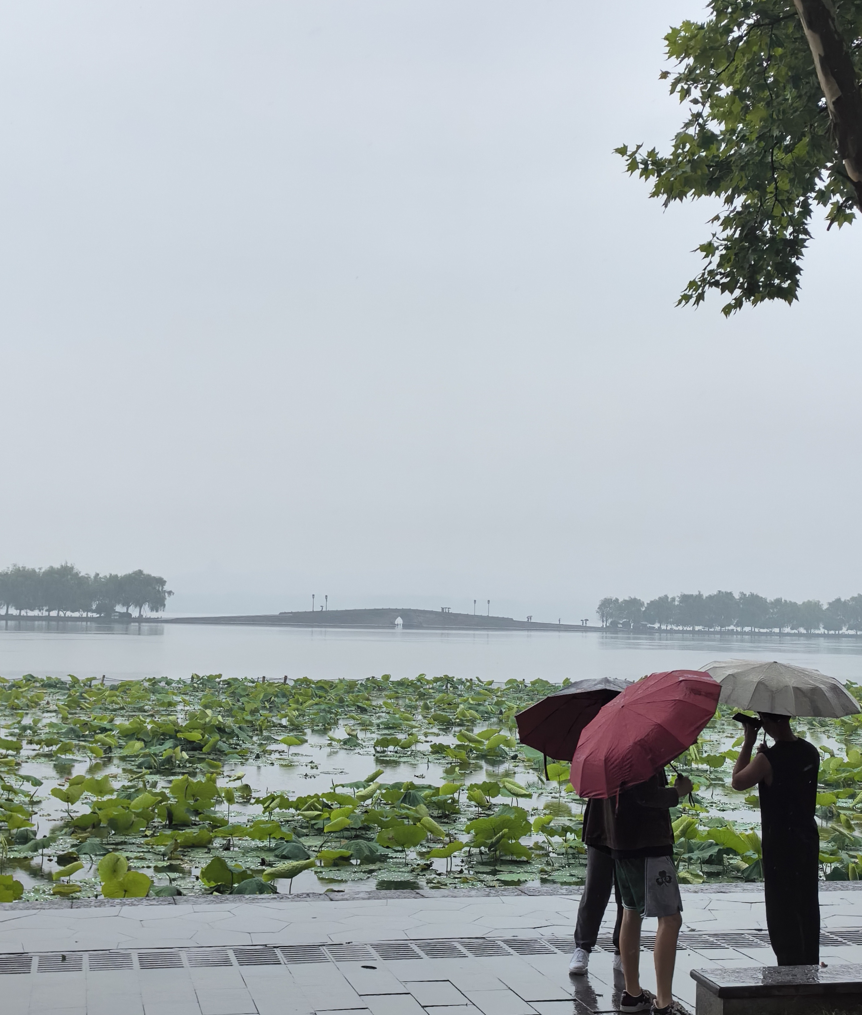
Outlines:
[[818,599],[794,603],[767,599],[754,592],[680,593],[659,596],[645,603],[628,599],[601,600],[596,612],[603,627],[656,627],[681,630],[807,631],[862,630],[862,595],[834,599],[825,606]]

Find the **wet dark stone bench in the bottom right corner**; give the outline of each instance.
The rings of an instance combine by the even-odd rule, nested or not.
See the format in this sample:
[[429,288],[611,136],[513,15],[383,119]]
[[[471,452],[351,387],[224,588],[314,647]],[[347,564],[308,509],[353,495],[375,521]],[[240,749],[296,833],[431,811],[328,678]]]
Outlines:
[[692,969],[697,1015],[862,1013],[862,965]]

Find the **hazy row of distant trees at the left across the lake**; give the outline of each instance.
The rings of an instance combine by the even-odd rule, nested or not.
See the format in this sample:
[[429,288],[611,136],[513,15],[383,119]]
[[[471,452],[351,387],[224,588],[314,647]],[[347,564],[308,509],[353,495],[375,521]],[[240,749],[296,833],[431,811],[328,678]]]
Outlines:
[[157,574],[142,570],[128,574],[82,574],[73,564],[59,567],[21,567],[12,564],[0,570],[0,609],[4,616],[9,610],[20,614],[58,617],[112,616],[122,607],[133,609],[138,616],[143,611],[157,613],[164,609],[168,597],[174,593]]

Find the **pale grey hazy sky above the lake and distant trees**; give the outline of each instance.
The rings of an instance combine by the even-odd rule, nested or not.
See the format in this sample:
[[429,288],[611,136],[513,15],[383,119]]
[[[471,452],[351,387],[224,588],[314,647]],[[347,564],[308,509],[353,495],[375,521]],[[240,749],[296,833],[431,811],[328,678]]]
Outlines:
[[174,612],[862,589],[862,225],[674,309],[643,0],[0,3],[0,566]]

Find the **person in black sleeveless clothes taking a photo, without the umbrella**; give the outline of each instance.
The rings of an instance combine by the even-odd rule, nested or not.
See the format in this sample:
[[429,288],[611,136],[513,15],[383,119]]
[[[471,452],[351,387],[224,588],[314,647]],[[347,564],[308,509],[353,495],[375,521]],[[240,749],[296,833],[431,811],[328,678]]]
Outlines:
[[[819,837],[814,820],[820,755],[794,736],[787,716],[760,713],[745,725],[733,768],[734,790],[756,785],[760,793],[764,894],[770,943],[779,965],[816,965],[820,960],[818,899]],[[775,740],[751,760],[757,729]]]

